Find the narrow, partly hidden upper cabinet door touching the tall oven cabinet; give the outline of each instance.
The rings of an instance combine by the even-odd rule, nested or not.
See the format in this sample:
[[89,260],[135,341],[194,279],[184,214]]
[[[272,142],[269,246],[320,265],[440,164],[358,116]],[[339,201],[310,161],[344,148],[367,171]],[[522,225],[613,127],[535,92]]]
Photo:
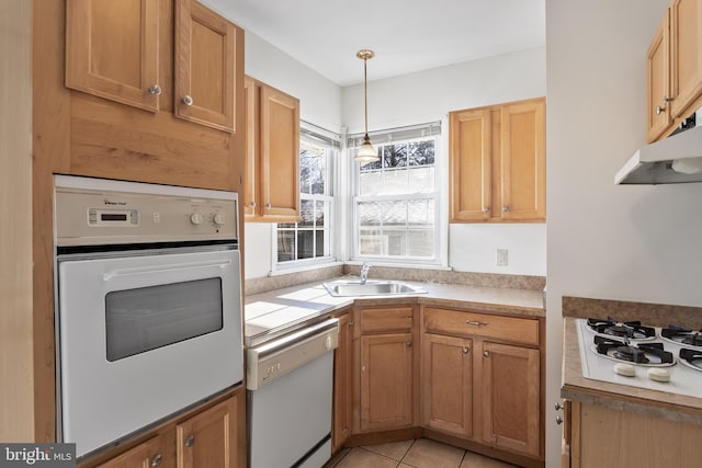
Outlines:
[[245,216],[256,216],[256,203],[258,201],[260,161],[258,159],[260,148],[260,93],[261,87],[251,78],[244,78],[244,104],[246,109],[246,159],[244,174],[246,176],[244,192]]

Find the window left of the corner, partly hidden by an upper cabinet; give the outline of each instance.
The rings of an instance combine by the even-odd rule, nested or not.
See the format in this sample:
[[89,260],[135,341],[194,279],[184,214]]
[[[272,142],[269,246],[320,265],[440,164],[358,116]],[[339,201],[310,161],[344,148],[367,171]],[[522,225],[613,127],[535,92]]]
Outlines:
[[333,161],[339,136],[302,123],[299,137],[299,222],[275,229],[278,267],[333,260]]

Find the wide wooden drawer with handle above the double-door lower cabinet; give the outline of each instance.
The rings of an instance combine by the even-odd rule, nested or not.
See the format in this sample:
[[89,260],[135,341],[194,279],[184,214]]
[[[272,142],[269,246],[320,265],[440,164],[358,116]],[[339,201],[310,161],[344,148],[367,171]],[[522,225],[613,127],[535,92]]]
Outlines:
[[539,321],[458,310],[423,310],[423,329],[461,336],[485,336],[539,346]]

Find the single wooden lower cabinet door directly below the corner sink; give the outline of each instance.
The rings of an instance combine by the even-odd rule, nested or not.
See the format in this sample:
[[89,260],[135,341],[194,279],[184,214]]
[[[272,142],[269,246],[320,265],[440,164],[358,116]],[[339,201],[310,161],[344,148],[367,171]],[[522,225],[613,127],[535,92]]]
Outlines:
[[361,431],[412,424],[412,333],[361,336]]

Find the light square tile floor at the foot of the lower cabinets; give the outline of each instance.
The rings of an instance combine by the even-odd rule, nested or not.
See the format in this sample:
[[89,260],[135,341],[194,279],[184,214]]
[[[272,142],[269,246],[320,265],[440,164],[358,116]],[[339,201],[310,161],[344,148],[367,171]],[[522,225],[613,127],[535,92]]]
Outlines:
[[514,468],[428,438],[344,448],[325,468]]

